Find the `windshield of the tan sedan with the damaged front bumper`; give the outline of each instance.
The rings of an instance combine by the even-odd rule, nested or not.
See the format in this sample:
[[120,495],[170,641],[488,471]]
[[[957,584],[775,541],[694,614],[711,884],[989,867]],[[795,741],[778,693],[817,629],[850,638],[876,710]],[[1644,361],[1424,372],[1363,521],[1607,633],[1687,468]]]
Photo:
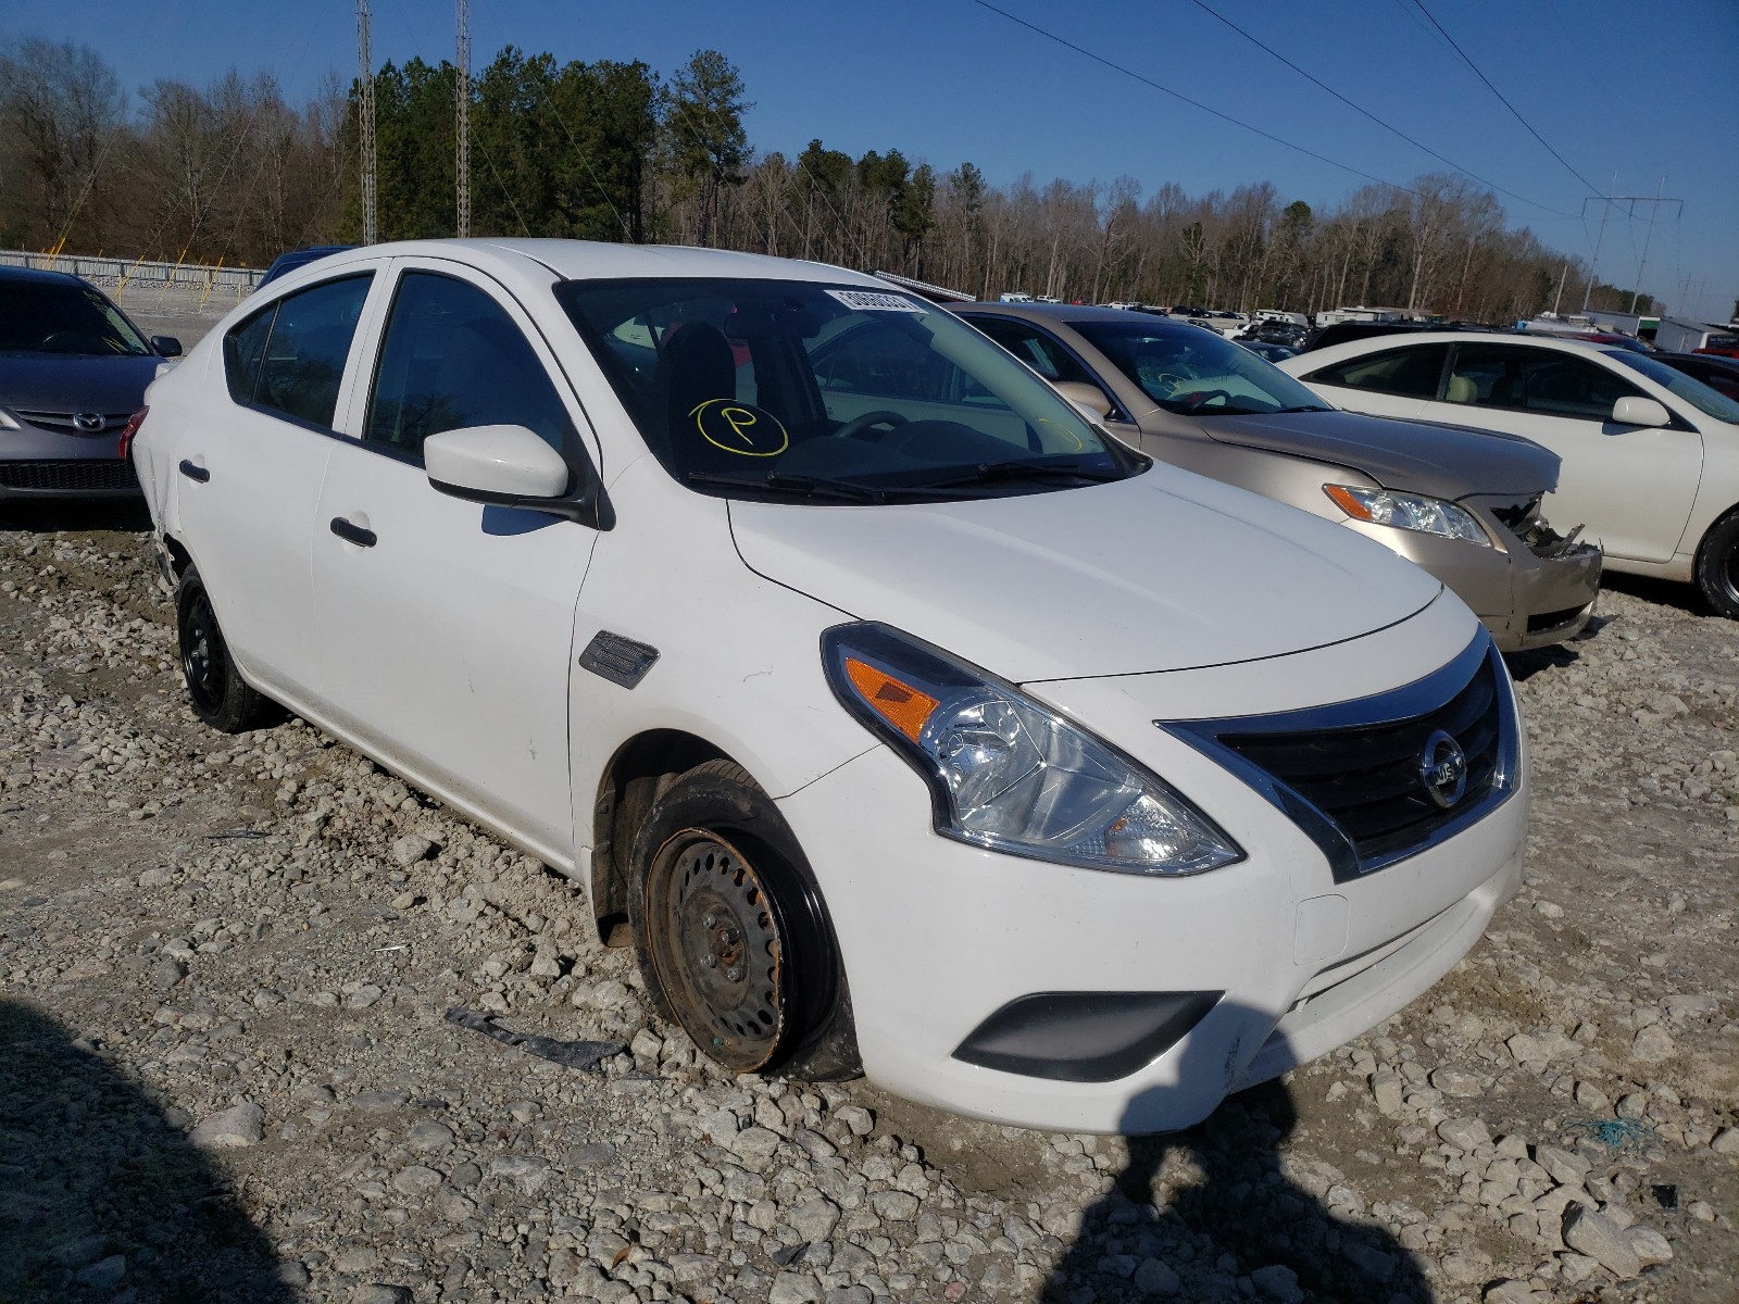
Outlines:
[[1301,381],[1209,330],[1141,322],[1069,325],[1167,412],[1217,417],[1329,409]]

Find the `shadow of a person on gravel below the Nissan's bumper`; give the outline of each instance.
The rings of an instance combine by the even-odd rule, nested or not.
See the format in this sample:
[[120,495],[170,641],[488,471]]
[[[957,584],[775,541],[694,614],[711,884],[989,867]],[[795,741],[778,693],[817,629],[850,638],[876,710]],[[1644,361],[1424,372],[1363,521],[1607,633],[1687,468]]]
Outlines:
[[[1186,1055],[1186,1080],[1200,1069]],[[1269,1081],[1184,1132],[1129,1137],[1129,1165],[1083,1212],[1040,1299],[1231,1304],[1250,1299],[1238,1280],[1254,1276],[1254,1297],[1273,1304],[1433,1304],[1419,1261],[1386,1229],[1336,1215],[1285,1175],[1280,1148],[1296,1128],[1292,1094]]]

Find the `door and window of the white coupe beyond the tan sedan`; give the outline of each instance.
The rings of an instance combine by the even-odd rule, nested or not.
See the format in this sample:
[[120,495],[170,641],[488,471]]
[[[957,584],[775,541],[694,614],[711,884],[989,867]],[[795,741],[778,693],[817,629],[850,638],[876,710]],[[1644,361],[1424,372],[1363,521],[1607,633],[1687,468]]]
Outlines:
[[1702,471],[1702,436],[1683,422],[1621,426],[1619,398],[1647,398],[1600,355],[1529,344],[1454,346],[1445,396],[1419,412],[1482,429],[1525,435],[1563,459],[1546,516],[1612,556],[1669,562],[1690,518]]

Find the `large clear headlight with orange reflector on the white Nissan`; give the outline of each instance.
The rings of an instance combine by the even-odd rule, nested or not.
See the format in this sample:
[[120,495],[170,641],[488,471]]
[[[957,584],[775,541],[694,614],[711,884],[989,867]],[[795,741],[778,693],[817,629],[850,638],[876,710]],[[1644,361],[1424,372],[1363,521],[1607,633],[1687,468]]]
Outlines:
[[1012,683],[883,624],[821,640],[828,683],[930,784],[936,831],[1089,869],[1183,876],[1243,850],[1165,781]]

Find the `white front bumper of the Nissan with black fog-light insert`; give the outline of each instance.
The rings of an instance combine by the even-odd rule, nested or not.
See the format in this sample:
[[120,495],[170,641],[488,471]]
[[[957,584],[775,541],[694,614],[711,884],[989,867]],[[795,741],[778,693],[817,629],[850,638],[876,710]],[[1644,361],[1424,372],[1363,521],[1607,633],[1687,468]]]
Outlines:
[[[1038,687],[1063,704],[1073,685]],[[977,850],[930,831],[923,782],[887,748],[779,802],[828,901],[875,1081],[1021,1127],[1189,1127],[1228,1092],[1412,1001],[1520,885],[1525,765],[1511,796],[1476,824],[1336,883],[1322,850],[1276,807],[1143,727],[1151,746],[1122,746],[1236,838],[1245,861],[1160,880]],[[1223,995],[1181,1040],[1109,1081],[958,1055],[991,1015],[1035,993],[1203,991]]]

